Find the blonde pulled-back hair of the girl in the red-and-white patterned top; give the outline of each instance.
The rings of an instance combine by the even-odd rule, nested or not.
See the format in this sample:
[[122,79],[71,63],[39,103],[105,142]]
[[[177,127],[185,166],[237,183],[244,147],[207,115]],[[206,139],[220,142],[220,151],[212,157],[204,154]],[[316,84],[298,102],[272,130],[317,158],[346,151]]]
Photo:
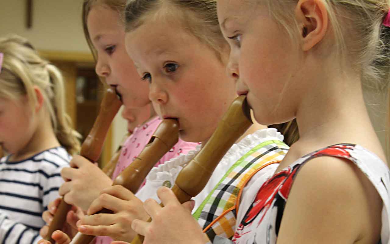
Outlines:
[[[379,93],[386,93],[390,79],[390,28],[383,25],[383,20],[390,9],[390,1],[322,0],[322,2],[331,23],[332,45],[337,48],[341,64],[352,65],[358,70],[362,85],[374,87]],[[294,7],[297,3],[298,0],[256,1],[256,4],[268,7],[271,16],[292,39],[301,33],[302,28],[294,16]],[[390,114],[390,107],[387,113]],[[390,122],[386,129],[388,132],[389,128]],[[387,138],[386,141],[388,140]],[[389,145],[387,151],[388,147]]]

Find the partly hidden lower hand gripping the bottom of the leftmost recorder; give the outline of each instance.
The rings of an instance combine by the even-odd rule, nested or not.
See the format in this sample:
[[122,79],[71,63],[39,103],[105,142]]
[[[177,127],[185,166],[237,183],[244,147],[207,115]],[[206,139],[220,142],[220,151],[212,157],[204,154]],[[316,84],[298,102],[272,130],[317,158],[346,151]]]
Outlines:
[[[53,220],[53,216],[55,212],[57,211],[57,207],[60,203],[61,198],[57,198],[51,203],[48,204],[48,210],[44,211],[42,214],[43,220],[46,222],[46,225],[39,230],[39,235],[46,236],[49,225],[51,221]],[[77,227],[76,222],[84,216],[83,211],[81,208],[78,208],[76,206],[72,206],[71,210],[67,213],[66,216],[66,223],[64,224],[62,231],[66,233],[70,237],[74,237],[77,233]]]

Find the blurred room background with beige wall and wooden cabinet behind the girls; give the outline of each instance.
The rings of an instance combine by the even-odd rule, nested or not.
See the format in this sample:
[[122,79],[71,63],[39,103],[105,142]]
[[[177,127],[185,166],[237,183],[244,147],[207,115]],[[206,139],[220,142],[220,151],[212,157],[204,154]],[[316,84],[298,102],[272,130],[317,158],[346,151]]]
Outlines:
[[[0,35],[15,33],[26,37],[44,57],[62,69],[68,112],[76,129],[86,135],[97,115],[103,87],[94,72],[94,61],[84,38],[81,6],[82,0],[0,0]],[[365,96],[378,137],[389,150],[385,146],[385,91],[365,87]],[[126,121],[119,112],[101,161],[108,162],[125,133]]]

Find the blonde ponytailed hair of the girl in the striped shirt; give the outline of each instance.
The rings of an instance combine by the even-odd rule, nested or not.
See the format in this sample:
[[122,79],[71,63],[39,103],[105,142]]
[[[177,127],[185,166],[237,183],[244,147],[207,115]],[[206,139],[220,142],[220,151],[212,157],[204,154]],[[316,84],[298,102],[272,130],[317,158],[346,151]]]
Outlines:
[[20,36],[0,38],[0,52],[4,53],[0,97],[17,100],[27,95],[33,110],[37,103],[34,87],[38,87],[58,141],[70,154],[78,153],[80,135],[71,127],[65,111],[64,80],[60,71],[39,57],[32,45]]

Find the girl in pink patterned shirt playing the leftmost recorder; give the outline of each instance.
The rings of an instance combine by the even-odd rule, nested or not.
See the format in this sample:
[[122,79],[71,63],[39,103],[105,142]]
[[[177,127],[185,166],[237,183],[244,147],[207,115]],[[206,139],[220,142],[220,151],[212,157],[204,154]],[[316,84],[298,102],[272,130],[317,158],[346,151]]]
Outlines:
[[[61,171],[66,182],[60,187],[60,195],[72,205],[87,210],[101,190],[112,185],[112,179],[121,173],[149,142],[161,119],[150,105],[147,83],[139,81],[133,61],[124,46],[124,27],[121,18],[125,0],[85,0],[83,3],[83,26],[85,36],[96,59],[96,73],[104,78],[108,85],[115,87],[117,94],[128,110],[138,110],[140,123],[133,134],[122,146],[122,154],[113,172],[112,178],[106,176],[98,167],[81,156],[75,156],[70,168]],[[125,114],[126,115],[126,114]],[[197,143],[179,140],[171,151],[156,164],[186,153]],[[54,204],[55,205],[55,204]],[[55,208],[43,216],[50,223]],[[41,233],[45,233],[43,230]]]

